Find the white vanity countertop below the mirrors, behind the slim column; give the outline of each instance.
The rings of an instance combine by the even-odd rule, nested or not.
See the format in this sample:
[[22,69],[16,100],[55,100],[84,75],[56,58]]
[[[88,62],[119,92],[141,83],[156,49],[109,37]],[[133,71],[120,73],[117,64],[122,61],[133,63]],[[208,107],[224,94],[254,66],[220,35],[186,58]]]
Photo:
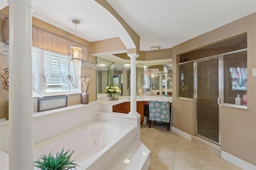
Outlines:
[[[136,97],[136,101],[149,101],[149,100],[158,100],[158,101],[170,101],[170,103],[172,102],[172,97],[160,97],[160,96],[137,96]],[[97,100],[97,101],[101,101],[101,100]],[[102,105],[118,105],[124,102],[130,102],[130,100],[128,100],[128,96],[120,96],[119,100],[105,100],[102,101]]]

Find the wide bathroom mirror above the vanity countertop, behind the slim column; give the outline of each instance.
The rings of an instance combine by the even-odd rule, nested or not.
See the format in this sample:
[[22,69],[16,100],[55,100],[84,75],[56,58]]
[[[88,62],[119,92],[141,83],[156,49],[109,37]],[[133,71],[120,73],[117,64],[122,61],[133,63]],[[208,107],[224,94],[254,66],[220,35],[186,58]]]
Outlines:
[[[164,67],[167,67],[167,83]],[[162,78],[160,78],[162,76]],[[136,63],[136,93],[137,95],[165,94],[167,84],[168,95],[172,95],[172,62],[169,63]],[[160,82],[161,81],[161,82]],[[122,96],[130,96],[130,63],[112,62],[97,57],[97,99],[106,97],[108,85],[118,84]]]

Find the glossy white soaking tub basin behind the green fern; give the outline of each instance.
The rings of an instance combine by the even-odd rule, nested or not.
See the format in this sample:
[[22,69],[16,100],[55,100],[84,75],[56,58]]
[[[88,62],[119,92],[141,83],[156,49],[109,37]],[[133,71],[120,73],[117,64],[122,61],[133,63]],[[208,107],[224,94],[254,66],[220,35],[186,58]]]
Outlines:
[[[131,125],[94,121],[35,144],[34,160],[51,151],[54,155],[64,147],[64,152],[75,150],[71,160],[80,166],[76,167],[77,170],[94,169],[92,165],[97,164],[99,159],[103,162],[99,161],[97,166],[102,164],[106,167],[107,162],[113,161],[110,157],[121,154],[117,152],[122,152],[121,148],[128,146],[133,138],[136,138],[136,128]],[[113,150],[114,146],[119,149]]]

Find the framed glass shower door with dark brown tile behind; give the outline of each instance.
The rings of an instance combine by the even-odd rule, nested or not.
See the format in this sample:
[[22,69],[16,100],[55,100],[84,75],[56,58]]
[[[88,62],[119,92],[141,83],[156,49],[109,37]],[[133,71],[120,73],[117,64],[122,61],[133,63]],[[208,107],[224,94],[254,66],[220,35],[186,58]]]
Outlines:
[[196,62],[196,135],[220,144],[219,58]]

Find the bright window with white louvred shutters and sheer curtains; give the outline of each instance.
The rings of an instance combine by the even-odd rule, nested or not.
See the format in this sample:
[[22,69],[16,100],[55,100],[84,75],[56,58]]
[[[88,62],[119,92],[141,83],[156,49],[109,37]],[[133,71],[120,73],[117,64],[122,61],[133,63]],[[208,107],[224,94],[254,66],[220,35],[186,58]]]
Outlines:
[[32,47],[32,61],[33,96],[80,92],[80,62],[37,47]]

